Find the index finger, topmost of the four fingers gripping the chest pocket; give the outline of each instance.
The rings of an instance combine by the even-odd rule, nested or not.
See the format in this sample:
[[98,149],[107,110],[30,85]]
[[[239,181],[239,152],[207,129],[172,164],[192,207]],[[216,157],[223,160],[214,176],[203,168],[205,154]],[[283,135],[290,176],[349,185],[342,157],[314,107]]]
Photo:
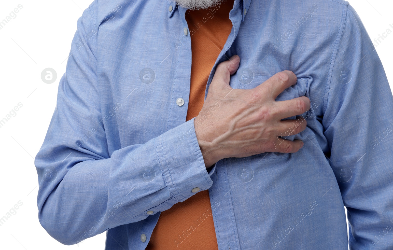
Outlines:
[[281,92],[294,85],[296,81],[297,77],[292,71],[284,70],[273,75],[254,89],[263,92],[274,101]]

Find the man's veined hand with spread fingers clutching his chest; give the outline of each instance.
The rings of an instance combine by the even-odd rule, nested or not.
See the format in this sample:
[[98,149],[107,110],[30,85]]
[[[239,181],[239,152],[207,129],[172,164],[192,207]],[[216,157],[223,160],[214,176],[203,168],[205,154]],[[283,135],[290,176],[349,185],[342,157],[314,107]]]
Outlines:
[[279,72],[261,85],[250,89],[233,89],[230,75],[239,67],[240,57],[234,55],[221,62],[209,86],[202,110],[194,120],[196,138],[206,167],[228,157],[246,157],[264,152],[295,153],[301,140],[278,138],[298,134],[307,122],[284,120],[303,114],[310,100],[298,97],[275,101],[286,88],[296,83],[296,75],[288,70]]

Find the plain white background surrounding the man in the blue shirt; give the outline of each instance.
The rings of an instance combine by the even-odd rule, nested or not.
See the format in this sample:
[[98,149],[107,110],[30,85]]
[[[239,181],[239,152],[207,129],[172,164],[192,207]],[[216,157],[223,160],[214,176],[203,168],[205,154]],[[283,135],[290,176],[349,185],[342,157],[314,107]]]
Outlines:
[[[34,157],[44,140],[55,109],[57,87],[65,72],[77,19],[92,0],[26,1],[8,0],[0,4],[0,21],[18,4],[17,17],[0,30],[0,119],[17,103],[23,107],[0,128],[0,218],[20,200],[23,205],[0,226],[0,248],[104,249],[102,233],[79,245],[65,246],[50,237],[38,221],[38,178]],[[388,0],[353,0],[371,40],[393,28],[393,3]],[[376,51],[393,86],[393,33]],[[40,74],[53,68],[57,80],[46,84]]]

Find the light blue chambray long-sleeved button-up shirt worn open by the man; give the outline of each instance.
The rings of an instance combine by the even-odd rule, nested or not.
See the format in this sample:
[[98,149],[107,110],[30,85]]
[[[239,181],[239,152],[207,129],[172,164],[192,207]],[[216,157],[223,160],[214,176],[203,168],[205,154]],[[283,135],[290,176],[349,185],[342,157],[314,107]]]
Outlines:
[[214,11],[195,27],[185,11],[164,0],[95,0],[79,18],[35,158],[45,230],[63,244],[107,230],[106,249],[144,249],[160,211],[198,187],[209,189],[220,250],[347,249],[344,206],[351,249],[393,249],[393,99],[348,2],[235,0],[215,65],[239,55],[230,85],[242,89],[292,70],[298,82],[276,101],[307,96],[311,108],[305,131],[283,135],[304,141],[297,153],[226,158],[209,172],[185,118],[190,33]]

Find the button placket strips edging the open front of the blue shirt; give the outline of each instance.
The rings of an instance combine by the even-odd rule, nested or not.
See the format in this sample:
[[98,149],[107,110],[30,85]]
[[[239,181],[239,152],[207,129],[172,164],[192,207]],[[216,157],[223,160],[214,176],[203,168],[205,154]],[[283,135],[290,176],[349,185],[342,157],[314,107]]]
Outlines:
[[[167,11],[169,18],[173,17],[173,13],[175,11],[174,6],[176,5],[172,2],[168,4]],[[209,75],[206,85],[205,98],[208,92],[209,84],[211,83],[211,79],[213,79],[217,64],[229,59],[225,53],[233,44],[237,32],[239,31],[239,26],[242,22],[242,19],[244,18],[242,15],[242,7],[242,1],[235,0],[235,8],[230,12],[230,20],[232,21],[233,28]],[[174,32],[179,33],[179,39],[175,41],[175,46],[173,48],[174,55],[178,58],[178,60],[176,65],[170,65],[170,67],[176,67],[176,73],[173,79],[173,88],[169,97],[171,105],[168,115],[167,130],[173,129],[174,127],[177,127],[178,125],[185,122],[189,103],[191,80],[191,38],[188,24],[185,20],[186,9],[182,7],[176,7],[176,9],[178,9],[180,14],[182,28],[179,29],[178,26],[176,26],[174,30]],[[230,187],[226,171],[226,159],[217,162],[215,171],[217,172],[211,175],[213,186],[209,188],[209,196],[213,211],[217,243],[220,250],[240,249],[232,200],[229,192]],[[140,232],[147,232],[148,235],[146,235],[146,237],[150,237],[151,232],[158,221],[158,218],[159,213],[156,214],[156,217],[151,218],[151,222],[145,221],[141,228],[139,228]],[[141,241],[143,240],[141,238]]]

